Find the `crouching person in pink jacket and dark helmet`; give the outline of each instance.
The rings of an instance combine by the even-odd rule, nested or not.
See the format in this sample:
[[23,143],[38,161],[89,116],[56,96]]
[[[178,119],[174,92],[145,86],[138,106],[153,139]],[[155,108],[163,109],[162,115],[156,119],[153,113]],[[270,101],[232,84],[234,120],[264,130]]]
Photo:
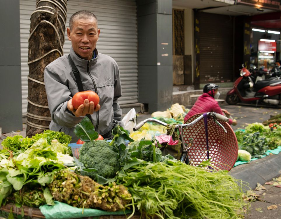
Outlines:
[[[216,112],[221,115],[230,116],[230,113],[219,107],[218,102],[215,99],[219,97],[218,88],[221,85],[215,85],[214,83],[207,84],[203,87],[203,94],[198,97],[195,104],[190,109],[189,113],[184,117],[184,121],[186,121],[189,117],[197,114],[197,113],[207,113],[207,112]],[[229,119],[228,122],[230,125],[237,125],[237,121],[235,119]]]

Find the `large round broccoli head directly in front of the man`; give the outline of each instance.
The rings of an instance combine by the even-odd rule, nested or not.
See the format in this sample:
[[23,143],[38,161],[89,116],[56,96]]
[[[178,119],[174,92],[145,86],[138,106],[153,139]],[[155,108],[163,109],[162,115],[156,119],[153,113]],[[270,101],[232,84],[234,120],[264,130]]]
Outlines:
[[[97,174],[104,178],[113,178],[120,169],[119,154],[104,140],[90,141],[82,145],[79,161],[85,168],[97,169]],[[90,177],[95,177],[95,172],[90,172]]]

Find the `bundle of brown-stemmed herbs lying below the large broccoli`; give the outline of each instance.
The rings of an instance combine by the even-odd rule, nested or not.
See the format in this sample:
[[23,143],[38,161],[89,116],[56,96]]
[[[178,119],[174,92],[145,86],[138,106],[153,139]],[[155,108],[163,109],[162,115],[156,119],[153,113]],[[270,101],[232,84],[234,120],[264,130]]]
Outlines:
[[78,208],[118,211],[125,209],[132,200],[123,185],[112,182],[103,186],[88,176],[77,175],[67,169],[55,174],[49,188],[55,200]]

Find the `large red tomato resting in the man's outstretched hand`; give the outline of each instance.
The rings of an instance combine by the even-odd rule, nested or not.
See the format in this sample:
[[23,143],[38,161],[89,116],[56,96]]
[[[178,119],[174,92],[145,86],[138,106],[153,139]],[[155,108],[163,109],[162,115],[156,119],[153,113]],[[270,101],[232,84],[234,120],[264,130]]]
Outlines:
[[74,109],[78,109],[78,107],[81,104],[84,104],[85,99],[88,99],[89,102],[93,101],[95,104],[95,107],[100,102],[100,98],[95,92],[93,92],[91,90],[81,91],[81,92],[74,94],[74,96],[72,98],[72,105],[73,105]]

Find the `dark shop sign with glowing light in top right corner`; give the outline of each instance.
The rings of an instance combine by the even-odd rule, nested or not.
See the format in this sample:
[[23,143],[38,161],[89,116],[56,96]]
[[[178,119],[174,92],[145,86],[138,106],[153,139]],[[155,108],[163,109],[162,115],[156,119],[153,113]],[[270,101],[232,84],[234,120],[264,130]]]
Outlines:
[[281,0],[237,0],[237,4],[281,10]]

